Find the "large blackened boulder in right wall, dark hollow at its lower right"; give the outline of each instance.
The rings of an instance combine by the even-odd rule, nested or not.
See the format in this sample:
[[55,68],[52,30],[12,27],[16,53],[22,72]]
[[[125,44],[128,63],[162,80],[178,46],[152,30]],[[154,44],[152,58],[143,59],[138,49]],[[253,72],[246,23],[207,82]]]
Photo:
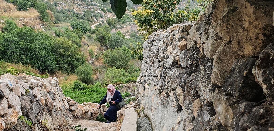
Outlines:
[[238,100],[259,102],[264,100],[264,92],[252,74],[252,68],[255,65],[256,58],[240,58],[225,79],[223,89],[231,93]]

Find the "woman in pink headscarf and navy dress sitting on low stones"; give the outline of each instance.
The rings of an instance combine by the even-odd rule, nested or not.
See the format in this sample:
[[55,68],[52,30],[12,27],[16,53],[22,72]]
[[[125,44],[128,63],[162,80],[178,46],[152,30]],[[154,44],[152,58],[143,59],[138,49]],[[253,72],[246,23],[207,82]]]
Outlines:
[[105,95],[104,99],[100,102],[99,107],[101,107],[102,104],[105,104],[109,102],[109,109],[107,112],[105,112],[104,117],[108,120],[107,123],[110,122],[116,122],[117,120],[117,112],[118,108],[116,107],[115,104],[119,103],[122,101],[122,95],[119,91],[115,89],[113,85],[107,86],[107,94]]

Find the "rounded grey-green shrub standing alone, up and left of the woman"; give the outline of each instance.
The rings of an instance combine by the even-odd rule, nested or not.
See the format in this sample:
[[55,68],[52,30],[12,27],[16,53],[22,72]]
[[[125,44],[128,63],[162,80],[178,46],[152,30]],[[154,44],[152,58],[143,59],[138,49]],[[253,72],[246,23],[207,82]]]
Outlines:
[[92,66],[86,63],[84,66],[79,66],[75,70],[75,75],[77,75],[78,80],[82,81],[83,83],[89,85],[93,81],[93,74]]

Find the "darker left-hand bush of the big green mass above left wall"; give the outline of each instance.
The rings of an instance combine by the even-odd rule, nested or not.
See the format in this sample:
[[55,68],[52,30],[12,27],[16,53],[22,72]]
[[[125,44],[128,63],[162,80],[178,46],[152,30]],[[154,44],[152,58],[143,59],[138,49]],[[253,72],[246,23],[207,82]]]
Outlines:
[[30,64],[41,72],[58,70],[55,52],[52,49],[53,38],[30,27],[17,28],[0,38],[1,60],[23,65]]

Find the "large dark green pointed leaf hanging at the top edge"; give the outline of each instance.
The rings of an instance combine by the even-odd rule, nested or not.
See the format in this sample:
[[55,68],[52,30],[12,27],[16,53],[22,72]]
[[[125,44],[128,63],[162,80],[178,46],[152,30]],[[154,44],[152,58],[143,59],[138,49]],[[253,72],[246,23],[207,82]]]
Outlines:
[[126,0],[110,0],[112,11],[115,13],[118,19],[121,19],[127,9]]

